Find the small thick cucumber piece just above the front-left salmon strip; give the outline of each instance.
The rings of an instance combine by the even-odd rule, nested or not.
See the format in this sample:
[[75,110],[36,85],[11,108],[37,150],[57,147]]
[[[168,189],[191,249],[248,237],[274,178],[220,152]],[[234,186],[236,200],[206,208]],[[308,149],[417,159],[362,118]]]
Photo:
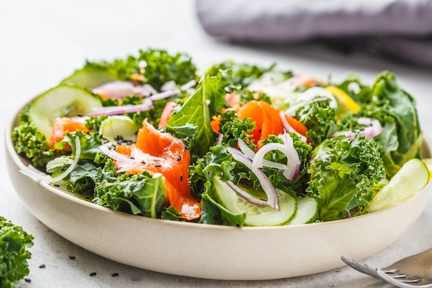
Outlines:
[[132,119],[124,115],[109,116],[102,121],[99,128],[99,134],[103,135],[104,138],[118,144],[121,140],[127,142],[137,142],[137,132],[139,125],[133,122]]

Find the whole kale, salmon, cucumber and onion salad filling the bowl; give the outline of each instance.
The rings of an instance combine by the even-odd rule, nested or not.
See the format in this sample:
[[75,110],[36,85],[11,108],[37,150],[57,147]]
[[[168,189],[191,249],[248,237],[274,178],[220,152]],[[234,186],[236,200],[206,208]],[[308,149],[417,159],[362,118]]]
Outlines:
[[383,71],[319,81],[275,64],[140,50],[87,61],[12,129],[21,173],[146,218],[234,227],[353,218],[429,182],[415,100]]

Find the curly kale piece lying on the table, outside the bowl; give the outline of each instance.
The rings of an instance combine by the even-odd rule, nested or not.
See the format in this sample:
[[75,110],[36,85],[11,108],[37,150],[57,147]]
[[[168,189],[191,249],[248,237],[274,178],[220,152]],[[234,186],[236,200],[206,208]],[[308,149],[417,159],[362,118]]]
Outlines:
[[32,247],[34,237],[9,220],[0,216],[0,287],[12,288],[14,282],[29,273],[27,260],[31,258],[27,248]]

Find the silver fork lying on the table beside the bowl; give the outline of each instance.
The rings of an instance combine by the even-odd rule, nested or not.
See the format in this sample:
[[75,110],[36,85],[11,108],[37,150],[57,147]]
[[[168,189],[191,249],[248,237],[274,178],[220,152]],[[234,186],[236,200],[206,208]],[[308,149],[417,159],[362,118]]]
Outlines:
[[342,256],[342,261],[357,271],[382,279],[396,287],[432,288],[432,248],[382,269],[360,263],[355,259],[349,260],[345,256]]

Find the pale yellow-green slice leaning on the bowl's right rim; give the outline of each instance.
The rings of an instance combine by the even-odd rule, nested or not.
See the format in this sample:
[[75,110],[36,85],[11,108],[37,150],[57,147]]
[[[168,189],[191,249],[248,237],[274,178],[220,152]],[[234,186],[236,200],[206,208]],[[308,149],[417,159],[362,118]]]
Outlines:
[[429,168],[422,160],[409,160],[369,202],[366,211],[376,211],[409,198],[429,183],[430,175]]

